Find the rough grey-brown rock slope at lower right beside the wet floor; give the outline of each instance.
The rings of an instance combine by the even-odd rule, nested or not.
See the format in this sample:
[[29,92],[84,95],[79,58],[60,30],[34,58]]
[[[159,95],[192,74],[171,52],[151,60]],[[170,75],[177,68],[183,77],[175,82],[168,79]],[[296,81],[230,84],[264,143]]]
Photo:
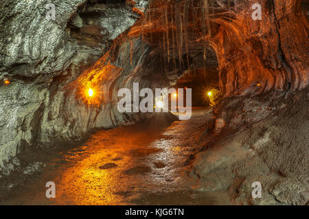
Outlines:
[[[238,101],[246,105],[248,99]],[[306,88],[282,99],[285,107],[281,111],[253,125],[243,120],[240,127],[229,126],[216,133],[219,138],[206,139],[206,150],[196,155],[190,172],[199,179],[195,189],[229,190],[231,201],[241,205],[308,204],[308,103]],[[233,107],[227,111],[239,114],[235,109],[241,107]],[[262,185],[262,198],[251,195],[255,181]]]

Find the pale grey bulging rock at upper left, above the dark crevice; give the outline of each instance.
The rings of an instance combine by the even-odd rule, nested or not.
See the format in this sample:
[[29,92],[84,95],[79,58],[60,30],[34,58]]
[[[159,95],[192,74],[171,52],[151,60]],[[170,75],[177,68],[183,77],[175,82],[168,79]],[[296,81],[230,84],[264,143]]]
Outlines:
[[46,18],[48,3],[1,3],[1,78],[14,75],[47,81],[69,66],[76,49],[64,30],[71,14],[83,1],[54,1],[54,21]]

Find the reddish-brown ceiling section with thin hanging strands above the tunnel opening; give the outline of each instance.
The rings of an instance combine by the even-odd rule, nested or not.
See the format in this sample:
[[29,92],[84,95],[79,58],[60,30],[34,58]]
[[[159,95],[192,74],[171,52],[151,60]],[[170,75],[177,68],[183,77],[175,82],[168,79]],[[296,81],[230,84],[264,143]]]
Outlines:
[[152,34],[159,31],[160,33],[156,36],[159,37],[157,41],[163,53],[161,56],[164,65],[172,60],[174,68],[177,66],[176,62],[179,62],[180,66],[184,65],[184,53],[187,66],[190,68],[189,44],[203,40],[205,63],[207,38],[211,36],[209,5],[214,5],[213,0],[152,0],[141,21],[139,33],[141,39],[144,41],[150,38],[149,40],[152,41],[154,40]]

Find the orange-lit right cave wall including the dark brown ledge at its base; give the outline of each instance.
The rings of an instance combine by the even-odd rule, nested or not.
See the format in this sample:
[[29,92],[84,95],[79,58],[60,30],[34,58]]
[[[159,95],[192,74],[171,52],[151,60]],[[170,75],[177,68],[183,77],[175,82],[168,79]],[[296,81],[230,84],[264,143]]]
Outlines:
[[[262,6],[262,20],[251,18],[253,3]],[[256,123],[308,87],[308,17],[301,1],[242,1],[229,19],[214,22],[221,25],[213,45],[224,94],[214,108],[214,130]]]

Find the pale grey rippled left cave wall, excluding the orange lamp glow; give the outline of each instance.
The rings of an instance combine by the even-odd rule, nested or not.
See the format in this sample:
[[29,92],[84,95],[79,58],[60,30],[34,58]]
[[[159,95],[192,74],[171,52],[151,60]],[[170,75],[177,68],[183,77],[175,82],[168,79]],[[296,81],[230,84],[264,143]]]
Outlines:
[[[114,105],[89,108],[65,87],[139,19],[137,12],[143,12],[148,1],[92,2],[53,1],[55,20],[46,18],[49,1],[1,2],[0,168],[21,152],[67,146],[93,127],[126,123],[124,115],[116,118],[111,113]],[[100,21],[84,18],[82,12],[91,10],[100,14]],[[84,26],[94,31],[85,34]],[[5,85],[5,79],[10,84]]]

